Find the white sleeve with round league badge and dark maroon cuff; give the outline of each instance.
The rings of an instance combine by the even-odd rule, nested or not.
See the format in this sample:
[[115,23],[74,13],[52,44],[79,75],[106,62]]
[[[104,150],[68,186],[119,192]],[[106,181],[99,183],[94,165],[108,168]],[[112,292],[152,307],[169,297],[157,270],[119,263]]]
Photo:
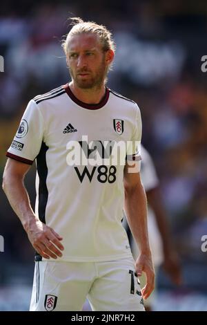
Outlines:
[[31,100],[23,113],[19,128],[6,156],[32,165],[43,141],[43,116],[37,104]]

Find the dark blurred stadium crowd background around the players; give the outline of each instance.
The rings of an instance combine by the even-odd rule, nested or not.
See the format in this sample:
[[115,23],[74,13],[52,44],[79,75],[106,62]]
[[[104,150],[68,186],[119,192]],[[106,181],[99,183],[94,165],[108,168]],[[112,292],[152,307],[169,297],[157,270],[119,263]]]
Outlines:
[[[135,100],[143,143],[161,180],[164,203],[181,258],[184,284],[159,270],[155,310],[207,310],[207,55],[206,1],[3,1],[0,9],[0,174],[5,152],[28,101],[68,80],[61,50],[67,18],[112,30],[117,44],[112,89]],[[34,205],[34,167],[26,180]],[[28,310],[33,250],[0,192],[0,310]],[[61,203],[60,203],[61,204]]]

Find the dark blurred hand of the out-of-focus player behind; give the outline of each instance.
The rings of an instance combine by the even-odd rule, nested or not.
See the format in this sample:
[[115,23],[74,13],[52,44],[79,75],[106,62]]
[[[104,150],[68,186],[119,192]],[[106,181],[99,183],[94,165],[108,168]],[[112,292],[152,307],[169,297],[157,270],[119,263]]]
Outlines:
[[163,268],[167,275],[169,275],[173,284],[180,286],[182,284],[181,266],[179,257],[175,250],[169,250],[164,256]]

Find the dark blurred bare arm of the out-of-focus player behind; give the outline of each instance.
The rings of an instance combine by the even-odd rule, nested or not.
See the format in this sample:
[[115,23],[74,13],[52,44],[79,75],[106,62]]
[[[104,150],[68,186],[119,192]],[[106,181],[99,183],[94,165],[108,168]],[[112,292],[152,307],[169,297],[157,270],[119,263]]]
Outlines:
[[177,252],[172,244],[166,211],[162,203],[159,187],[154,187],[146,192],[148,203],[155,213],[157,227],[161,235],[164,252],[164,269],[175,284],[181,284],[181,267]]

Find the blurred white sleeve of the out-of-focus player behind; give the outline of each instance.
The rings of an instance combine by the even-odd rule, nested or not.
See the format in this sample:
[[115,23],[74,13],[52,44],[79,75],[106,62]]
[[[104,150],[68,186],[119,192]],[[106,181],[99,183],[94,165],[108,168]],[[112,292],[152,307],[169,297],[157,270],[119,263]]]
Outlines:
[[155,165],[150,154],[143,146],[141,146],[141,181],[146,192],[157,187],[159,184]]

